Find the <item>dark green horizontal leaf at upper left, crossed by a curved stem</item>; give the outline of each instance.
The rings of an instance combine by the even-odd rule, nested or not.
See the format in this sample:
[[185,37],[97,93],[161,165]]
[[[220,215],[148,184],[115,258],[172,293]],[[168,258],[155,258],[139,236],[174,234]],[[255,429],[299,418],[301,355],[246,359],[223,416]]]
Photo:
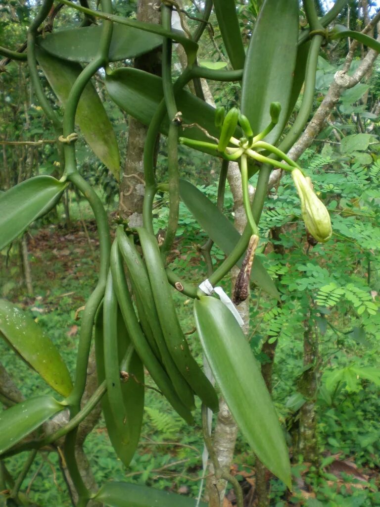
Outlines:
[[[39,37],[37,44],[58,58],[88,63],[97,56],[101,31],[99,25],[60,30]],[[109,61],[135,58],[161,46],[162,41],[162,35],[115,23],[109,46]]]

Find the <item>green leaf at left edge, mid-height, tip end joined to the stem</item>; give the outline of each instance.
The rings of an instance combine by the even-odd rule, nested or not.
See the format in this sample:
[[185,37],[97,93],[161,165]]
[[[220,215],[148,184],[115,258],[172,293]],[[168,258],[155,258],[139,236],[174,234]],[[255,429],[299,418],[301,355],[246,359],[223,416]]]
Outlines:
[[0,194],[0,250],[59,201],[66,184],[35,176]]

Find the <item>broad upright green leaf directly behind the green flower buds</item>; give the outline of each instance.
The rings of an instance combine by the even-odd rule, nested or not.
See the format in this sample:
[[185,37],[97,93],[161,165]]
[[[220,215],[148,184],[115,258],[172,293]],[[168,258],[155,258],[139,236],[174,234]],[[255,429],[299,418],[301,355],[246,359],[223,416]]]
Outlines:
[[271,102],[280,102],[282,107],[278,124],[265,137],[272,144],[287,121],[297,55],[298,4],[298,0],[264,1],[245,59],[241,111],[253,133],[270,124]]

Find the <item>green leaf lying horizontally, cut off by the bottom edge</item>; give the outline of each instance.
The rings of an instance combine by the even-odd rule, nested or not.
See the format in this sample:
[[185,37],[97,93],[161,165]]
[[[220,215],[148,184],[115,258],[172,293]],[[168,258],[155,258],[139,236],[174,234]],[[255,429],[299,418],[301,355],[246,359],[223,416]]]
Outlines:
[[[94,496],[94,499],[109,507],[194,507],[196,500],[183,495],[169,493],[147,486],[108,482]],[[204,502],[200,507],[207,507]]]

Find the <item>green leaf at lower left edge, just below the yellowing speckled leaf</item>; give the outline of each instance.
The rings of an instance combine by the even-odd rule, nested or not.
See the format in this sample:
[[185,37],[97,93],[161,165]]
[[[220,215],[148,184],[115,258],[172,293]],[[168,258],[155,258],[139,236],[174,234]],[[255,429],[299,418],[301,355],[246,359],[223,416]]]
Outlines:
[[0,412],[0,454],[64,408],[52,396],[36,396]]

